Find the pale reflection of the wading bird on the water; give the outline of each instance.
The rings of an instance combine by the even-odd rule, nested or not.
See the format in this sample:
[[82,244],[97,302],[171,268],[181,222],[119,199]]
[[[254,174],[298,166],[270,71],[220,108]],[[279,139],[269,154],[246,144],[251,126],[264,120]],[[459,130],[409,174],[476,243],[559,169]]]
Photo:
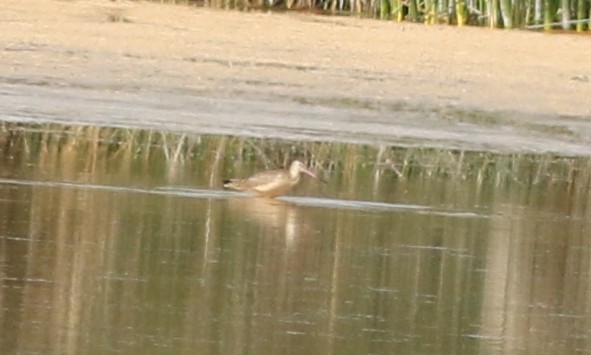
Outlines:
[[290,248],[300,234],[301,221],[296,205],[263,197],[240,197],[228,200],[232,213],[256,222],[265,231],[281,233],[286,247]]

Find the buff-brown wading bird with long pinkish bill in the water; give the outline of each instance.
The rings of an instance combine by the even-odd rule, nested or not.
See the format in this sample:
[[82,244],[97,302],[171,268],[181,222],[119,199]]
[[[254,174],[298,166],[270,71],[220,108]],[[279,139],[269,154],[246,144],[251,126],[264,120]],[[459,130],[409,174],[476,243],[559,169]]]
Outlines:
[[[302,173],[319,179],[302,162],[294,160],[287,170],[262,171],[246,179],[224,180],[224,187],[237,191],[254,192],[264,197],[275,197],[291,190],[300,181]],[[322,179],[319,180],[324,182]]]

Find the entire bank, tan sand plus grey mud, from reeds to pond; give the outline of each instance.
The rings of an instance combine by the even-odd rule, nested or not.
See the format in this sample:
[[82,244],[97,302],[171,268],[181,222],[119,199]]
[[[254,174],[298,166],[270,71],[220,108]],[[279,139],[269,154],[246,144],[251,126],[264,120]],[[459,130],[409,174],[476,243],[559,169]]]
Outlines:
[[0,119],[588,154],[589,40],[7,0]]

